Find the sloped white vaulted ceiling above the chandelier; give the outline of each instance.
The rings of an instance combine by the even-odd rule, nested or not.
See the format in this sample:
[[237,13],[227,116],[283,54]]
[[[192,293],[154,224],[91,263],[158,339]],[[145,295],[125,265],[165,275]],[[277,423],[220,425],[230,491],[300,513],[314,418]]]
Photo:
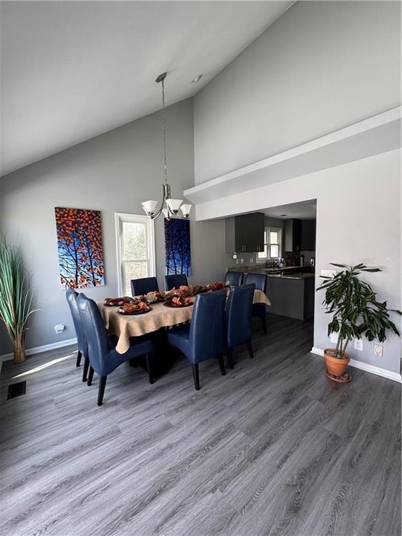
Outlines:
[[160,109],[159,73],[193,96],[292,3],[1,2],[0,174]]

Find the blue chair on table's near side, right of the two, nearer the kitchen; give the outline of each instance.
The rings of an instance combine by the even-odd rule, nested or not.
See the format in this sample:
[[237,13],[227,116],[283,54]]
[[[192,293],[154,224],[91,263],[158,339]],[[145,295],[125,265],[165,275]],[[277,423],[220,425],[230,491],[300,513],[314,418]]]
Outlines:
[[230,290],[225,311],[225,342],[228,352],[229,368],[234,368],[233,348],[246,343],[248,353],[253,359],[251,344],[251,313],[253,311],[255,283],[241,285]]

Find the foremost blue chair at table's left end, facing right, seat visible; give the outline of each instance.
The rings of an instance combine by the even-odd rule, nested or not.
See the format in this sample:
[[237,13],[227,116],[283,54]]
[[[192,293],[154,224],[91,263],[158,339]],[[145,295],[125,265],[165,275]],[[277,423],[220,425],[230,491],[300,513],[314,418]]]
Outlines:
[[119,354],[116,350],[115,339],[107,335],[101,313],[99,312],[95,301],[80,294],[77,297],[77,305],[82,318],[82,325],[84,327],[84,334],[87,338],[88,345],[88,385],[91,385],[92,383],[94,371],[100,378],[98,405],[102,405],[103,402],[107,375],[125,361],[138,357],[139,355],[145,354],[147,358],[149,383],[154,383],[151,338],[147,336],[135,337],[135,341],[131,343],[127,352]]

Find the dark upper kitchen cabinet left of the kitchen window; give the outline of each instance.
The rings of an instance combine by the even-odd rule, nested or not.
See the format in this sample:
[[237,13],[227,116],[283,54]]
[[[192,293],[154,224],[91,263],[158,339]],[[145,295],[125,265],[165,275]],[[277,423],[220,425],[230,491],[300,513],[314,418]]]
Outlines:
[[225,220],[225,251],[255,253],[264,251],[265,214],[241,214]]

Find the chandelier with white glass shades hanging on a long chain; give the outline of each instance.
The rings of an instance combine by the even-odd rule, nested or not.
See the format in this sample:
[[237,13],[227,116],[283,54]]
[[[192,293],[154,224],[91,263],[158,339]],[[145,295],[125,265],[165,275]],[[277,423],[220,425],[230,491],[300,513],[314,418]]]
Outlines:
[[[167,73],[163,73],[156,78],[155,82],[162,82],[162,133],[163,133],[163,174],[164,181],[162,184],[162,204],[158,207],[158,201],[144,201],[142,208],[151,220],[156,220],[161,214],[166,219],[170,220],[172,216],[177,218],[190,218],[191,204],[183,204],[182,199],[172,199],[170,197],[170,185],[168,184],[168,167],[167,167],[167,151],[166,151],[166,110],[165,110],[165,77]],[[181,214],[179,213],[181,210]]]

